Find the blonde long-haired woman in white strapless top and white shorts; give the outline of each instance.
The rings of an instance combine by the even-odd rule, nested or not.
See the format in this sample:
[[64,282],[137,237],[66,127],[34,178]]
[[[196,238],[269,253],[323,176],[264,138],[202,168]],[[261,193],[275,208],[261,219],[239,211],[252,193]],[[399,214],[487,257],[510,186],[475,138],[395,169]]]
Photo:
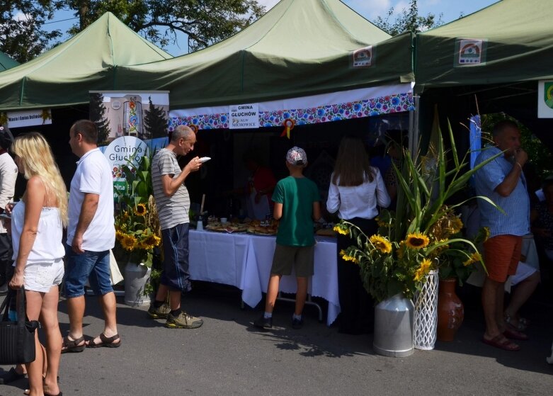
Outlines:
[[[26,364],[28,395],[62,395],[57,371],[62,334],[57,320],[58,285],[64,275],[62,228],[67,225],[67,189],[52,150],[38,132],[16,137],[11,146],[19,172],[27,179],[20,203],[8,205],[13,238],[11,288],[25,285],[27,316],[40,320],[46,334],[46,353],[35,336],[35,361]],[[44,356],[46,355],[46,356]],[[46,375],[42,365],[46,359]]]

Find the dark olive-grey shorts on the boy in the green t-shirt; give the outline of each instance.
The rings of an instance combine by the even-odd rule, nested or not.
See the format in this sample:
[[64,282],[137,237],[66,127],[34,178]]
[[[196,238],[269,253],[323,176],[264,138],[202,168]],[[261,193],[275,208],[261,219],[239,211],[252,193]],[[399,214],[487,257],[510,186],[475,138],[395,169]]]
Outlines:
[[270,273],[290,275],[292,267],[296,276],[307,278],[314,274],[315,246],[285,246],[277,244]]

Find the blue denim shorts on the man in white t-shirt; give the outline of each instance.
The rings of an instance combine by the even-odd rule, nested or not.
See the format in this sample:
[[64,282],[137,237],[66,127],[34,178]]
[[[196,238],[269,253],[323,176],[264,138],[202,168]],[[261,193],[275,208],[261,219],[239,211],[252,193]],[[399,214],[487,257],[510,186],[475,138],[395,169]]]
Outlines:
[[110,280],[110,251],[88,251],[76,254],[66,245],[64,290],[67,298],[84,295],[84,285],[89,279],[94,294],[105,295],[113,292]]

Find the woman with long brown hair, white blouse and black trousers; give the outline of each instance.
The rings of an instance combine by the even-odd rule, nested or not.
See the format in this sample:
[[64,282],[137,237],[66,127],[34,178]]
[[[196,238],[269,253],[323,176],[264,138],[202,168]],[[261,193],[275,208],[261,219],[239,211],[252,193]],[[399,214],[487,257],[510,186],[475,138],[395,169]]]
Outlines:
[[[370,166],[363,140],[343,137],[338,148],[336,165],[331,175],[326,209],[358,226],[367,236],[378,230],[375,217],[378,206],[386,208],[390,198],[378,168]],[[338,296],[340,319],[338,332],[364,334],[372,332],[374,302],[363,287],[359,266],[344,261],[338,254],[355,244],[347,235],[338,234]]]

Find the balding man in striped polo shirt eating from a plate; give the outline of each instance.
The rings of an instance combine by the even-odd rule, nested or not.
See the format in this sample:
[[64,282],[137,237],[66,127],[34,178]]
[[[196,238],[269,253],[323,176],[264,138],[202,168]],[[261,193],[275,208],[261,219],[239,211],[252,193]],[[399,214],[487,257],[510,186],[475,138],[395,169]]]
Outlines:
[[[159,150],[152,161],[152,184],[161,226],[164,249],[164,270],[154,303],[148,314],[153,319],[166,318],[171,329],[195,329],[203,324],[198,317],[181,310],[181,293],[190,291],[188,271],[188,209],[190,197],[184,181],[202,163],[195,157],[181,169],[177,156],[194,149],[196,136],[186,125],[178,125],[171,141]],[[169,293],[169,307],[165,299]]]

